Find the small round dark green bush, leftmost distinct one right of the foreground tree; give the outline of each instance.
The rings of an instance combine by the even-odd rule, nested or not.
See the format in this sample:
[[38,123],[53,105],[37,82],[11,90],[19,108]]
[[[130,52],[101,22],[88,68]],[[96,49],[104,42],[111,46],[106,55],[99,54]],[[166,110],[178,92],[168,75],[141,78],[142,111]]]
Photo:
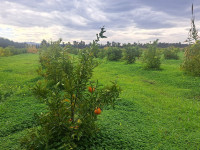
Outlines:
[[122,58],[122,49],[118,47],[109,47],[107,50],[107,59],[110,61],[118,61]]

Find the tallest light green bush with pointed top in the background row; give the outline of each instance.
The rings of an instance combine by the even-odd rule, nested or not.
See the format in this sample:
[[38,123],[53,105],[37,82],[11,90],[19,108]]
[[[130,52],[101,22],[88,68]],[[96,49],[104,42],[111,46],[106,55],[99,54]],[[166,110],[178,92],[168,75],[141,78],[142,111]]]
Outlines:
[[153,44],[149,44],[147,50],[144,52],[143,63],[146,69],[160,69],[160,52],[157,49],[158,40]]

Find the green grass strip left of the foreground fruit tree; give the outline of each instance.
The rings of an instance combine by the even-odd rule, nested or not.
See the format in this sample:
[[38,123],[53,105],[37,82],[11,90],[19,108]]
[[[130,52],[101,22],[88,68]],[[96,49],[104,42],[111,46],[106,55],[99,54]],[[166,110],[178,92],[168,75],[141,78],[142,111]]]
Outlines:
[[38,56],[0,57],[0,149],[20,149],[18,139],[33,126],[34,113],[44,111],[30,88],[39,79]]

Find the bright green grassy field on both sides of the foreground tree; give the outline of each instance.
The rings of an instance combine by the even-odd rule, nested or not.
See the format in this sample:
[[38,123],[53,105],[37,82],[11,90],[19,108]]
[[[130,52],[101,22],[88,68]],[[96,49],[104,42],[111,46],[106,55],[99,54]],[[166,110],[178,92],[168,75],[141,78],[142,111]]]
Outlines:
[[[140,61],[104,61],[95,68],[93,80],[117,80],[123,91],[115,109],[99,115],[97,137],[79,149],[200,149],[200,78],[185,75],[181,63],[162,60],[160,71],[144,70]],[[30,91],[39,79],[38,56],[4,57],[0,64],[0,149],[20,149],[34,113],[45,111]]]

